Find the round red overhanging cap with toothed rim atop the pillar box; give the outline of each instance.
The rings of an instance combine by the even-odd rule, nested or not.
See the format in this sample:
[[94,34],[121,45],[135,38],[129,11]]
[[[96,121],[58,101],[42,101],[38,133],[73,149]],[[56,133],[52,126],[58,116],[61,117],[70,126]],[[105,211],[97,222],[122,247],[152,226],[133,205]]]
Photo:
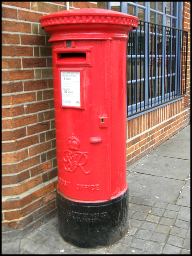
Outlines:
[[[124,34],[123,37],[127,37],[129,32],[137,28],[139,19],[133,15],[112,10],[82,8],[48,14],[39,18],[39,21],[41,28],[51,35],[49,41],[57,41],[66,40],[70,37],[71,39],[82,39],[83,37],[90,39],[90,34],[93,32],[95,34],[92,34],[91,38],[94,39],[104,39],[106,34],[117,34],[118,31],[121,31],[121,36]],[[64,38],[64,35],[67,38]]]

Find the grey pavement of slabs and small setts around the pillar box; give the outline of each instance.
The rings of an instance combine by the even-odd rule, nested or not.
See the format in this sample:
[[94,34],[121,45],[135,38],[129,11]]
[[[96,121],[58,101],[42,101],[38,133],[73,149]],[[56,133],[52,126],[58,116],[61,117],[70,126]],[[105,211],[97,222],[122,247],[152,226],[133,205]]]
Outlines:
[[127,169],[129,230],[119,242],[72,246],[55,217],[3,242],[2,254],[190,254],[190,125]]

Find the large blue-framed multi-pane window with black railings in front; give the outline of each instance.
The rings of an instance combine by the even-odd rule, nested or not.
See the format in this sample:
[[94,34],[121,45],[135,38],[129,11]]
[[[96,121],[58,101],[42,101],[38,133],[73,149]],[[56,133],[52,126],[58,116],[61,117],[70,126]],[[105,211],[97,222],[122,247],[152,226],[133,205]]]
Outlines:
[[108,9],[139,18],[127,43],[127,118],[186,93],[186,84],[181,86],[188,40],[181,30],[182,2],[107,3]]

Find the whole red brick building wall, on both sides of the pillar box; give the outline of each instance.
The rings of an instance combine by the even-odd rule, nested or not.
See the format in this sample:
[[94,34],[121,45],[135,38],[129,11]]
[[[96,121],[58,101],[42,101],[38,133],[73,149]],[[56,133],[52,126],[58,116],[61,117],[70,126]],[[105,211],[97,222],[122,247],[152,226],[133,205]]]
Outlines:
[[[70,2],[70,8],[97,2]],[[42,224],[55,213],[57,160],[49,35],[39,17],[66,10],[66,2],[2,2],[2,226]],[[190,2],[183,27],[189,30]],[[190,39],[189,39],[190,40]],[[189,44],[190,47],[190,44]],[[188,56],[188,59],[190,56]],[[190,62],[187,103],[190,104]],[[138,160],[188,122],[184,99],[127,122],[127,161]],[[173,116],[173,117],[172,117]],[[19,233],[18,230],[21,230]]]

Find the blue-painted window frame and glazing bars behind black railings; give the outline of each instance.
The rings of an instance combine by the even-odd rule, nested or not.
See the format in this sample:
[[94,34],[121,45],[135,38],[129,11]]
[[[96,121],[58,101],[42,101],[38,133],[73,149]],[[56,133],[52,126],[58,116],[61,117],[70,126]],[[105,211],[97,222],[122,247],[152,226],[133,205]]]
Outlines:
[[[111,2],[108,2],[108,9],[111,9]],[[154,3],[154,9],[153,8],[150,8],[150,3]],[[172,38],[172,34],[170,35],[167,35],[166,34],[166,30],[170,30],[170,33],[172,33],[172,30],[171,30],[171,26],[166,26],[167,24],[167,20],[169,19],[170,21],[170,25],[172,25],[174,23],[174,26],[175,28],[178,28],[181,30],[181,26],[182,26],[182,2],[169,2],[170,3],[170,6],[169,6],[169,10],[170,10],[170,14],[172,14],[173,12],[173,9],[175,10],[175,13],[174,15],[170,15],[170,14],[167,14],[167,2],[162,2],[162,10],[158,10],[158,3],[159,2],[143,2],[143,5],[140,5],[138,4],[138,2],[120,2],[120,11],[121,12],[124,12],[124,13],[127,13],[127,9],[128,9],[128,5],[129,6],[133,6],[135,8],[135,13],[131,13],[135,16],[138,16],[138,8],[142,9],[144,14],[144,20],[145,22],[150,22],[150,14],[151,13],[154,13],[154,17],[155,17],[155,24],[157,24],[157,20],[158,20],[158,15],[161,15],[162,16],[162,40],[163,41],[163,46],[165,45],[165,38]],[[174,8],[173,8],[174,7]],[[148,25],[147,25],[148,24]],[[157,25],[154,26],[157,28]],[[150,35],[153,34],[152,32],[149,33],[149,37],[147,38],[147,34],[146,33],[146,30],[149,29],[149,23],[145,23],[145,32],[144,32],[144,38],[145,38],[145,52],[144,52],[144,56],[146,57],[145,58],[145,65],[144,67],[149,67],[149,63],[151,61],[151,59],[154,59],[155,60],[155,66],[157,68],[157,56],[153,56],[149,54],[149,38],[150,38]],[[148,28],[147,28],[148,26]],[[139,29],[139,27],[137,28],[137,30]],[[135,33],[138,33],[137,30],[134,30]],[[179,33],[179,32],[178,32]],[[175,34],[176,36],[176,34]],[[138,38],[138,34],[136,36],[136,38]],[[153,37],[151,37],[153,38]],[[130,40],[130,39],[129,39]],[[167,40],[166,40],[167,41]],[[130,41],[128,41],[130,42]],[[155,96],[154,97],[151,97],[149,98],[149,83],[150,83],[150,80],[154,80],[155,83],[157,81],[157,74],[155,74],[155,77],[153,76],[149,76],[149,68],[145,68],[145,75],[144,75],[144,78],[142,79],[142,82],[145,81],[145,88],[143,89],[144,91],[144,94],[145,94],[145,100],[143,101],[139,101],[139,102],[132,102],[131,104],[128,105],[128,100],[127,100],[127,120],[131,119],[131,118],[134,118],[135,115],[141,115],[143,114],[143,111],[145,112],[150,112],[151,111],[151,108],[159,108],[161,107],[162,105],[167,105],[173,101],[176,101],[176,100],[179,100],[180,99],[180,76],[181,76],[181,63],[179,65],[176,66],[176,70],[174,70],[174,74],[169,74],[167,73],[167,75],[165,74],[168,70],[165,70],[167,67],[165,66],[165,57],[167,58],[170,58],[170,63],[169,65],[171,66],[171,58],[175,58],[175,62],[178,61],[178,60],[181,60],[181,50],[180,50],[180,47],[178,47],[178,45],[181,44],[181,40],[176,43],[176,47],[175,47],[175,56],[173,57],[171,54],[170,56],[168,57],[168,54],[166,55],[166,46],[165,48],[163,49],[162,47],[162,61],[163,61],[163,64],[162,66],[165,67],[165,68],[162,68],[162,74],[161,74],[161,80],[167,78],[168,80],[168,77],[169,77],[169,80],[170,78],[174,76],[175,78],[175,85],[174,85],[174,88],[172,91],[169,90],[168,92],[168,84],[167,84],[167,88],[166,88],[166,84],[163,82],[163,85],[162,85],[162,91],[161,91],[161,95],[159,96]],[[137,52],[137,48],[138,48],[138,45],[137,45],[137,42],[135,42],[135,51]],[[157,48],[157,43],[156,43],[156,48]],[[157,50],[157,49],[156,49]],[[171,49],[171,52],[172,52],[172,49]],[[138,58],[140,58],[140,54],[135,54],[135,56],[130,56],[130,54],[127,54],[127,62],[128,60],[130,60],[130,58],[135,58],[135,62],[137,63],[138,65],[138,62],[136,60],[138,60]],[[132,60],[132,59],[131,59]],[[140,62],[141,63],[141,62]],[[128,80],[127,79],[127,88],[129,86],[129,84],[131,83],[135,83],[137,84],[137,82],[141,82],[140,79],[138,79],[138,76],[137,76],[137,65],[135,65],[135,72],[134,72],[134,78],[131,79],[131,80]],[[170,70],[169,70],[170,71]],[[137,79],[136,79],[137,78]],[[152,83],[152,82],[151,82]],[[170,86],[170,84],[169,84]],[[137,90],[137,86],[135,85],[136,87],[136,90]],[[155,90],[156,90],[156,86],[154,86]],[[128,89],[127,89],[128,90]],[[135,90],[135,89],[134,89]],[[135,90],[135,92],[136,92]],[[167,90],[167,94],[165,94],[165,90]],[[136,95],[136,93],[135,93]],[[176,97],[175,97],[176,95]],[[179,97],[179,98],[178,98]],[[137,100],[137,96],[135,97],[136,100]],[[166,98],[166,100],[165,100]],[[131,99],[132,100],[132,99]],[[133,112],[133,108],[135,110],[135,112]],[[137,108],[140,109],[140,111],[137,111]],[[141,114],[140,114],[141,113]]]

